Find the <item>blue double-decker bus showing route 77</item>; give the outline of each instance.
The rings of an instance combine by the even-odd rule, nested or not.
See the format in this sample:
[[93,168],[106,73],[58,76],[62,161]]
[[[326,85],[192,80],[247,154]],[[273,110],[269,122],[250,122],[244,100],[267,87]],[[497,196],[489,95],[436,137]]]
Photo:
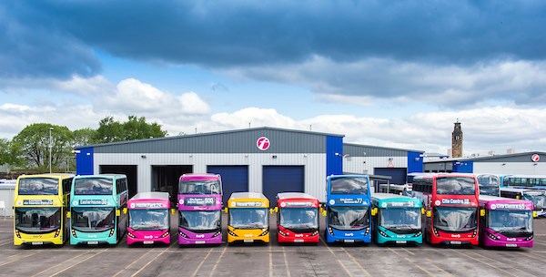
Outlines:
[[326,242],[371,242],[368,175],[331,175],[326,180]]

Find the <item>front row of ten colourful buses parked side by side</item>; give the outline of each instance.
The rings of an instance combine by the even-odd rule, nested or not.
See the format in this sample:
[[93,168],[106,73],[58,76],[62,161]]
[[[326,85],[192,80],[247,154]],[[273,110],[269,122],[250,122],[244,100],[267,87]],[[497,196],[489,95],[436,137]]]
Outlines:
[[[235,192],[222,203],[217,174],[179,179],[179,244],[269,242],[269,214],[277,214],[278,242],[319,242],[319,215],[326,216],[326,242],[448,243],[531,247],[531,200],[480,196],[473,175],[426,174],[413,179],[412,195],[371,193],[367,175],[327,178],[327,201],[299,192],[278,193],[276,207],[257,192]],[[14,243],[170,243],[167,192],[141,192],[128,199],[125,175],[21,176],[15,188]]]

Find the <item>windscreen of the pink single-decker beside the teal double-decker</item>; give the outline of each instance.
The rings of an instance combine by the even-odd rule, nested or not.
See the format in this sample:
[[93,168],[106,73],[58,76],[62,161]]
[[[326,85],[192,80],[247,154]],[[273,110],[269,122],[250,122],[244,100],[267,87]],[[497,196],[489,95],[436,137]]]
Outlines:
[[129,228],[133,230],[168,229],[168,210],[129,210]]

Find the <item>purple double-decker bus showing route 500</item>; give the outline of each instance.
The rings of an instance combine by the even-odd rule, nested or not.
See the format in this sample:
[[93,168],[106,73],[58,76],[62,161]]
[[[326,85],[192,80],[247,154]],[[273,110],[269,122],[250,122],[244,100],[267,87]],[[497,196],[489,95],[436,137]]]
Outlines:
[[178,244],[222,243],[220,175],[191,173],[178,182]]

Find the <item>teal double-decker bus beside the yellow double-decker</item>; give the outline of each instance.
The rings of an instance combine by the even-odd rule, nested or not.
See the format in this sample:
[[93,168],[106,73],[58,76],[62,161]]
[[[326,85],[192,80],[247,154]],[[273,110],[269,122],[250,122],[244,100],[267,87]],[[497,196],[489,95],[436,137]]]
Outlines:
[[70,244],[117,244],[126,231],[127,178],[78,175],[70,198]]

